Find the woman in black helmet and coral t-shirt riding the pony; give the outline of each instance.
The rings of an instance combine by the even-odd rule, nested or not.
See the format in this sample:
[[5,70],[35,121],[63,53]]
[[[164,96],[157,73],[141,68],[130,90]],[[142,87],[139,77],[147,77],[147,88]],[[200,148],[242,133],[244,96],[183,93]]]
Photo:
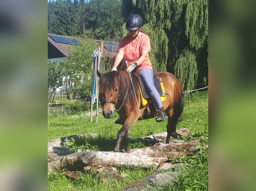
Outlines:
[[151,49],[150,39],[141,29],[142,25],[143,20],[140,15],[133,14],[128,17],[125,28],[129,34],[121,40],[119,51],[111,71],[117,71],[117,67],[123,59],[127,64],[127,66],[125,65],[126,72],[131,74],[135,69],[140,71],[146,92],[158,108],[158,115],[155,120],[156,122],[160,122],[164,121],[167,115],[164,111],[161,97],[154,86],[153,69],[149,59]]

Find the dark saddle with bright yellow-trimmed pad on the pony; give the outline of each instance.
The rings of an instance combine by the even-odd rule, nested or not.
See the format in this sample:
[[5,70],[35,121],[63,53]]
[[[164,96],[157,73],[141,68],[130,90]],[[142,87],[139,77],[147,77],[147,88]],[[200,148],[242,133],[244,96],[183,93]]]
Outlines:
[[[155,88],[157,90],[157,92],[159,93],[160,97],[161,97],[161,101],[164,102],[166,100],[166,92],[162,83],[162,79],[160,77],[157,76],[157,72],[156,70],[153,68],[153,73],[154,73],[154,85]],[[139,84],[140,84],[140,95],[141,95],[141,103],[143,106],[146,106],[146,109],[143,112],[142,118],[146,119],[149,114],[150,114],[150,108],[149,108],[149,103],[152,103],[152,99],[150,98],[150,96],[148,95],[148,93],[146,92],[145,89],[145,85],[144,82],[142,80],[142,78],[140,77],[140,71],[136,70],[134,71],[134,75],[138,78],[139,80]],[[141,120],[141,119],[139,119]]]

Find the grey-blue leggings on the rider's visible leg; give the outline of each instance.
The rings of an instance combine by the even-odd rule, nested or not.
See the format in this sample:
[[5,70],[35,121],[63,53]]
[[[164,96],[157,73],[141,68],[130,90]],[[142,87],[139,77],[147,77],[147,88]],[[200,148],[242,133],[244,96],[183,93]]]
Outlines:
[[148,95],[152,98],[154,103],[156,104],[157,108],[162,107],[162,101],[159,93],[157,92],[155,85],[154,85],[154,74],[153,70],[149,68],[141,69],[140,76],[145,84],[146,91]]

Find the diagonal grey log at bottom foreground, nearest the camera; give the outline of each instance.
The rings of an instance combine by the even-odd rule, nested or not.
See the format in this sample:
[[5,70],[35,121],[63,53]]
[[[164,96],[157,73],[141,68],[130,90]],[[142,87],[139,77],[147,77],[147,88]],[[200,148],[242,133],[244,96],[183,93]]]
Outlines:
[[171,183],[177,178],[178,169],[186,170],[182,164],[163,163],[156,171],[121,188],[119,191],[163,190],[163,186],[171,187]]

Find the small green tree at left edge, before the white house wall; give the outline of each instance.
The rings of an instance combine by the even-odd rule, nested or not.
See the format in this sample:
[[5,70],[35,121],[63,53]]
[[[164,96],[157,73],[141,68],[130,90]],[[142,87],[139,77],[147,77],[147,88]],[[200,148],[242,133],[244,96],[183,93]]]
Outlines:
[[52,103],[56,94],[56,89],[63,85],[62,69],[58,62],[48,61],[48,103]]

